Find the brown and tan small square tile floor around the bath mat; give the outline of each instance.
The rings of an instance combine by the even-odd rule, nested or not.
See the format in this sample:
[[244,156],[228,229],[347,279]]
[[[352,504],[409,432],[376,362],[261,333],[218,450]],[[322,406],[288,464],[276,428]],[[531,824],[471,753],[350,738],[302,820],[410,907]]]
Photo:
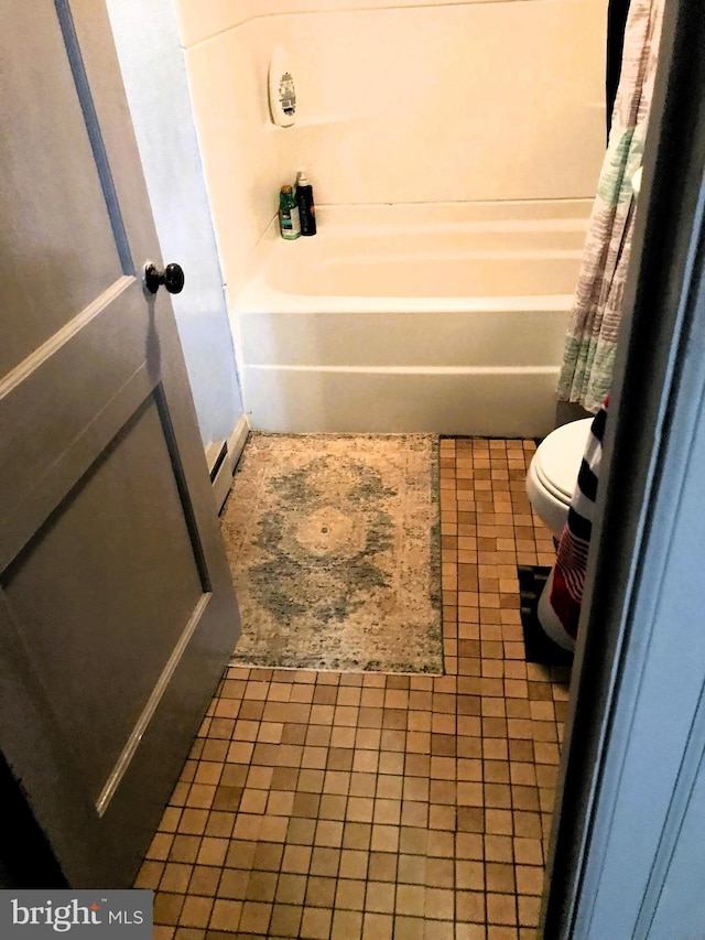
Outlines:
[[535,936],[568,677],[523,660],[533,451],[441,442],[445,676],[228,670],[135,882],[155,940]]

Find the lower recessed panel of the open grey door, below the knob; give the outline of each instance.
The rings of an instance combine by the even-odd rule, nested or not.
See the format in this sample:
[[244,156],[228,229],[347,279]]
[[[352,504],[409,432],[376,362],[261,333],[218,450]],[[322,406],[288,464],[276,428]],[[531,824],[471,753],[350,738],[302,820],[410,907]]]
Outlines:
[[204,594],[182,500],[150,396],[1,577],[94,801]]

